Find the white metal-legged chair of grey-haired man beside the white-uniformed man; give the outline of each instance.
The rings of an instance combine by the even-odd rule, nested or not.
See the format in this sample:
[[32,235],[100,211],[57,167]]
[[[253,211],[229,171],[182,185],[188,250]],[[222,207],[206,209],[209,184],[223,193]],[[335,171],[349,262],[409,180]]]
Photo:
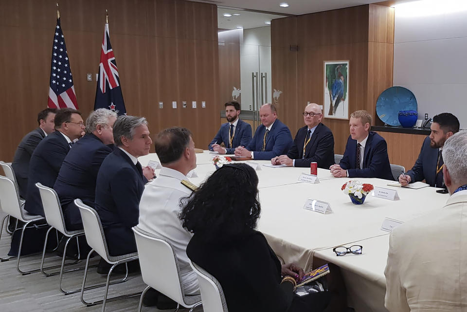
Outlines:
[[[125,295],[115,296],[112,298],[107,298],[109,285],[118,284],[118,283],[122,283],[126,281],[128,277],[127,262],[137,260],[138,253],[131,253],[131,254],[122,255],[122,256],[110,256],[108,254],[108,247],[107,247],[106,237],[104,234],[104,229],[102,228],[101,220],[99,219],[97,212],[90,206],[84,204],[80,199],[74,200],[74,203],[79,208],[79,212],[81,214],[81,220],[83,221],[83,227],[84,227],[84,233],[86,235],[86,240],[88,241],[88,245],[92,248],[86,259],[86,266],[84,269],[84,277],[83,277],[83,285],[81,287],[81,302],[84,303],[88,307],[102,303],[102,312],[104,312],[106,310],[107,302],[140,295],[141,292],[138,292],[138,293],[125,294]],[[108,263],[112,264],[112,266],[110,267],[110,270],[108,271],[107,282],[105,284],[85,287],[86,276],[88,275],[89,258],[93,251],[98,253],[99,256],[101,256]],[[113,269],[117,265],[123,264],[123,263],[125,263],[125,266],[126,266],[126,275],[124,276],[124,278],[110,282],[110,275],[112,274]],[[103,300],[94,301],[94,302],[88,302],[84,300],[85,290],[94,289],[94,288],[98,288],[101,286],[106,287]]]

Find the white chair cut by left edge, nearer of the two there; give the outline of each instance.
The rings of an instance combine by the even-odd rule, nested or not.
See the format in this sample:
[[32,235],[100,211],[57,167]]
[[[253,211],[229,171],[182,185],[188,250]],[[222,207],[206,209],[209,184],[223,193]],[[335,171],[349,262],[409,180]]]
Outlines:
[[[24,210],[24,202],[21,202],[19,197],[18,197],[18,192],[17,192],[17,190],[15,188],[14,182],[12,180],[6,178],[6,177],[3,177],[3,176],[0,176],[0,203],[1,203],[2,210],[6,214],[8,214],[8,215],[10,215],[12,217],[15,217],[18,220],[24,222],[22,227],[15,230],[15,231],[18,231],[18,230],[21,231],[21,237],[19,239],[18,256],[17,256],[18,257],[18,264],[17,264],[18,272],[21,273],[22,275],[30,274],[30,273],[33,273],[33,272],[38,272],[39,269],[29,270],[29,271],[21,271],[21,269],[19,268],[19,260],[21,258],[21,247],[23,245],[24,230],[26,229],[26,227],[30,223],[45,220],[45,218],[42,217],[42,216],[32,216],[32,215],[28,214],[28,212],[26,210]],[[3,219],[3,221],[5,221],[5,219]],[[39,227],[48,226],[48,224],[45,223],[45,224],[40,224],[38,226]],[[2,222],[2,227],[3,227],[3,222]],[[0,232],[0,239],[1,239],[1,232]],[[44,244],[46,244],[46,243],[47,243],[47,241],[44,242]],[[9,257],[9,258],[11,258],[11,257]],[[1,260],[5,261],[5,260],[7,260],[9,258],[2,258]]]

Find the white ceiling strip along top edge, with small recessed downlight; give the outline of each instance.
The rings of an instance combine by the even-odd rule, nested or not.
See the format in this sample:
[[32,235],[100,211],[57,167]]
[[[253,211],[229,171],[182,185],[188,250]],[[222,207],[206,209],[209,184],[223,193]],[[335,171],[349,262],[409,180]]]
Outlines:
[[[266,11],[278,14],[302,15],[328,11],[350,6],[380,2],[382,0],[194,0],[247,10]],[[282,8],[280,3],[287,2],[289,7]]]

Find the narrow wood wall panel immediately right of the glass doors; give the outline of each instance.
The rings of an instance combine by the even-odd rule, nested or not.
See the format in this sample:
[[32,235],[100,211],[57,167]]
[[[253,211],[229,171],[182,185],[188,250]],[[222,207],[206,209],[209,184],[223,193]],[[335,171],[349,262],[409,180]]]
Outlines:
[[272,98],[277,108],[279,119],[285,123],[292,135],[298,128],[297,105],[297,51],[290,51],[290,46],[296,46],[297,18],[278,18],[271,21],[271,74],[272,92],[281,91],[278,100]]

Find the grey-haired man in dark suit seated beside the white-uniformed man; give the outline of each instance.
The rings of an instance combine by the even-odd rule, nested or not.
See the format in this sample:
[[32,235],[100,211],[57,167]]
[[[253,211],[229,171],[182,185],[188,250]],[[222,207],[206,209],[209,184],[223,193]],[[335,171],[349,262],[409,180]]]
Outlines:
[[[119,116],[113,126],[115,148],[102,163],[97,174],[95,209],[104,228],[108,252],[120,256],[136,252],[131,228],[138,224],[139,204],[144,184],[154,170],[138,162],[147,155],[152,140],[146,119]],[[106,273],[99,271],[98,273]]]

